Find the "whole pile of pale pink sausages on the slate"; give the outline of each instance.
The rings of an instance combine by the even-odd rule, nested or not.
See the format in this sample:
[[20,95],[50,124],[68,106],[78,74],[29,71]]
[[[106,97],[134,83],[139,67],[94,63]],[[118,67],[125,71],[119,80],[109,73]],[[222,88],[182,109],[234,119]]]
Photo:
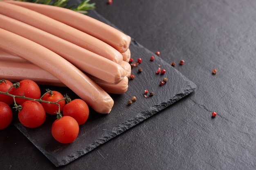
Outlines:
[[69,87],[98,113],[128,89],[131,37],[87,15],[0,1],[0,78]]

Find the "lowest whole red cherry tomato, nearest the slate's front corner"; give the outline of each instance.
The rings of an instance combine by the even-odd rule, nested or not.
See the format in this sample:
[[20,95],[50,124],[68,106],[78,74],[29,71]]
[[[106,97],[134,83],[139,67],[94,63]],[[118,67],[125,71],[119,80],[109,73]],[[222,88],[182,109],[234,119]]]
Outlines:
[[76,120],[70,116],[63,116],[52,124],[52,136],[63,144],[73,142],[79,133],[79,125]]

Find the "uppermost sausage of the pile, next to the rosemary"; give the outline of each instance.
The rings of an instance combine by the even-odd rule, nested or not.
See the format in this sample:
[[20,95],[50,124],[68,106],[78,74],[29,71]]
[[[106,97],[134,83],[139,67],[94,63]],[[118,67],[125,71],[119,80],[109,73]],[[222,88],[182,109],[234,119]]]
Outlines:
[[116,28],[109,26],[99,20],[96,20],[88,15],[78,13],[76,11],[65,9],[62,7],[54,7],[45,4],[36,4],[30,2],[10,1],[5,2],[19,5],[42,13],[55,20],[63,22],[74,28],[77,28],[85,33],[88,33],[102,41],[110,44],[119,52],[125,52],[130,45],[131,37],[117,30]]

